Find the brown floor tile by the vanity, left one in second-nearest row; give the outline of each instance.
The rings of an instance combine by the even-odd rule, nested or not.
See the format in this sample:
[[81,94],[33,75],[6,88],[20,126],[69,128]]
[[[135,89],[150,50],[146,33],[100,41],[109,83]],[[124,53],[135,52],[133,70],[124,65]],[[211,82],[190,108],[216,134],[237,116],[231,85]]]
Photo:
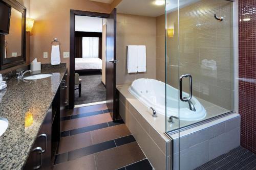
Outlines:
[[57,154],[73,151],[79,148],[88,147],[92,145],[92,138],[90,132],[80,133],[68,137],[62,137],[59,141]]

